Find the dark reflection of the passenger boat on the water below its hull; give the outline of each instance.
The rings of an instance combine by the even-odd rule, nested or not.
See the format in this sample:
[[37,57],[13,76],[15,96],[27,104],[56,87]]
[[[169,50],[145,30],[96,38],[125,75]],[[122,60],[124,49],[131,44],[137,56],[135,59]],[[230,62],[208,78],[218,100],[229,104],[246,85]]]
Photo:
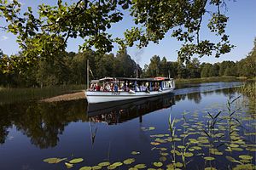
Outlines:
[[143,115],[174,104],[172,93],[148,99],[89,104],[88,116],[90,122],[106,122],[109,125],[126,122],[136,117],[140,117],[140,122],[143,122]]

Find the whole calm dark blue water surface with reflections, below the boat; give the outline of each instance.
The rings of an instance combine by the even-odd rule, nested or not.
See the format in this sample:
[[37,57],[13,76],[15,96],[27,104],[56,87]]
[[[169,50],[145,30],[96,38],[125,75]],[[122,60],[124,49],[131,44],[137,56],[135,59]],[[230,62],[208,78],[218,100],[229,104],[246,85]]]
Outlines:
[[[220,115],[227,117],[227,99],[230,95],[232,99],[240,95],[232,88],[238,85],[239,82],[186,85],[177,89],[176,95],[118,103],[115,106],[88,106],[85,100],[0,105],[0,169],[67,169],[64,163],[73,158],[83,158],[84,161],[74,164],[72,169],[93,167],[102,161],[122,162],[127,158],[135,158],[135,162],[117,169],[129,169],[137,164],[158,168],[153,163],[159,161],[163,163],[161,168],[166,169],[166,165],[172,163],[168,124],[170,114],[172,119],[176,119],[176,138],[181,139],[176,142],[176,147],[185,145],[189,150],[187,152],[193,153],[193,156],[186,156],[187,169],[211,166],[227,169],[229,165],[236,167],[241,163],[253,168],[255,113],[248,109],[243,97],[237,99],[236,106],[232,105],[231,108],[232,111],[240,108],[232,120],[235,124],[235,118],[239,119],[240,123],[234,125],[236,132],[231,136],[236,141],[229,143],[233,144],[232,147],[224,144],[225,137],[216,142],[223,155],[209,154],[209,146],[203,140],[199,144],[188,145],[189,139],[207,139],[204,131],[209,132],[207,121],[211,120],[207,111],[213,116],[222,111]],[[226,136],[227,128],[226,121],[219,121],[216,131],[222,131]],[[189,136],[185,137],[188,133]],[[201,150],[193,150],[194,146],[200,146]],[[228,151],[229,147],[231,151]],[[183,147],[177,150],[182,152]],[[132,155],[132,151],[139,154]],[[241,159],[241,155],[249,157]],[[204,157],[207,156],[215,160],[206,161]],[[241,163],[230,163],[225,156],[231,156]],[[67,160],[55,164],[43,161],[50,157],[67,157]],[[244,160],[247,162],[242,162]],[[176,162],[182,162],[181,156],[176,157]]]

